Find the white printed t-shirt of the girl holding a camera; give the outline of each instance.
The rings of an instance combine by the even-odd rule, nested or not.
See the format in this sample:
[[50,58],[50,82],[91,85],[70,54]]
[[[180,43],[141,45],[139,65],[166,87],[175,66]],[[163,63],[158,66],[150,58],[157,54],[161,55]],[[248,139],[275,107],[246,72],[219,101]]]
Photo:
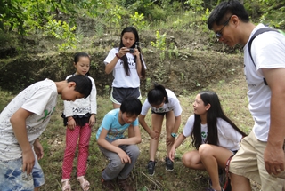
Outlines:
[[[111,49],[108,56],[104,60],[104,64],[107,65],[108,63],[110,63],[110,61],[116,57],[116,53],[118,53],[118,48]],[[138,88],[140,87],[140,76],[138,76],[137,74],[134,55],[131,53],[126,53],[126,58],[128,61],[128,66],[130,68],[130,76],[126,76],[126,72],[124,69],[124,61],[119,59],[115,68],[113,69],[114,80],[112,83],[112,87]],[[142,64],[144,68],[146,68],[143,59]]]

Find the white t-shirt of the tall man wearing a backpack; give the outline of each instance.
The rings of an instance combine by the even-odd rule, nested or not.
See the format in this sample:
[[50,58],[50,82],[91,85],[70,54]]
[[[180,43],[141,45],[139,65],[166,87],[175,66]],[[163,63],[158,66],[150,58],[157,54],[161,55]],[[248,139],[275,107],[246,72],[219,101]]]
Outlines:
[[[250,37],[257,29],[264,27],[263,24],[257,25]],[[271,90],[264,84],[261,68],[285,68],[285,37],[274,31],[258,35],[252,42],[251,54],[256,66],[249,56],[246,44],[244,74],[248,83],[248,108],[255,120],[253,131],[256,139],[266,142],[270,127]]]

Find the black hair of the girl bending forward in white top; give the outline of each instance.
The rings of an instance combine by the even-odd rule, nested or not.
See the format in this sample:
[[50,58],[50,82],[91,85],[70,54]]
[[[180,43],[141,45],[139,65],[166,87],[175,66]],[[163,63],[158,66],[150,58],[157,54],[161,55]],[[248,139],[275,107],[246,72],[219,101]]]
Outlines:
[[164,103],[168,103],[168,95],[165,87],[160,84],[154,84],[154,88],[148,92],[148,101],[151,106],[159,106],[165,98]]

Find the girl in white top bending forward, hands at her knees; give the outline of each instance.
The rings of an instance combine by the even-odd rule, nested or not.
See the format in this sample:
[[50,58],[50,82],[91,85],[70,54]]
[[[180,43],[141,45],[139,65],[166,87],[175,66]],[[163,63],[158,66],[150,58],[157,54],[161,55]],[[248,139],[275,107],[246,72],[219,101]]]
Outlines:
[[[145,115],[151,108],[151,127],[144,121]],[[148,172],[152,176],[155,167],[155,155],[159,145],[159,136],[161,133],[162,122],[166,115],[167,123],[167,157],[166,170],[173,171],[173,162],[169,159],[168,153],[175,142],[176,133],[181,123],[182,108],[175,93],[165,89],[160,84],[155,84],[154,89],[148,92],[148,97],[142,105],[142,112],[139,115],[139,122],[143,129],[147,131],[151,137],[150,142],[150,161],[148,163]]]

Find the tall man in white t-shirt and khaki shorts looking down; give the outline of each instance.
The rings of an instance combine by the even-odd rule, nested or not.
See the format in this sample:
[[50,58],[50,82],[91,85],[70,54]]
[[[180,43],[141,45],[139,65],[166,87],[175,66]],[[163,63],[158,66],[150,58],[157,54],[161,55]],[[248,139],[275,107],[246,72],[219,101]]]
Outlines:
[[274,31],[256,36],[251,45],[253,62],[248,40],[265,26],[251,23],[238,0],[218,4],[208,18],[208,28],[220,42],[231,47],[244,46],[248,108],[255,120],[252,131],[232,158],[232,190],[251,190],[249,179],[261,183],[263,191],[281,190],[285,178],[285,37]]

